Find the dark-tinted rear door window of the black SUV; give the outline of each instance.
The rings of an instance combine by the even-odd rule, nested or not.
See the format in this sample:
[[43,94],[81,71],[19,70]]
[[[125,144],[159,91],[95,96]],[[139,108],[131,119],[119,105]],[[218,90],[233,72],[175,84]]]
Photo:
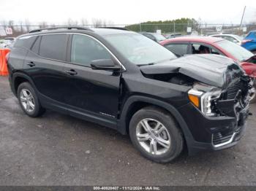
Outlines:
[[43,35],[39,47],[39,55],[59,61],[66,60],[67,34]]

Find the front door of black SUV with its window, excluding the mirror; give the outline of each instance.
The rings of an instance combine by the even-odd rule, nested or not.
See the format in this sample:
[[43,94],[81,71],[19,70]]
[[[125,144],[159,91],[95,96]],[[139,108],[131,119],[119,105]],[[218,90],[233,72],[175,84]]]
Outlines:
[[66,96],[71,114],[80,112],[115,120],[121,72],[94,70],[90,63],[112,59],[118,65],[117,60],[103,44],[88,35],[73,34],[69,47],[69,63],[66,63],[65,71],[69,73]]

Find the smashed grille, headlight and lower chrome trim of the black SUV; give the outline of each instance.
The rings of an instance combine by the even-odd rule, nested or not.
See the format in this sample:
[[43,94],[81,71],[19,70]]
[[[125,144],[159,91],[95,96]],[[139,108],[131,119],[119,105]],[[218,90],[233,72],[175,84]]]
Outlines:
[[[192,90],[189,90],[189,100],[195,106],[197,105],[192,96],[200,98],[200,105],[197,107],[203,114],[213,120],[219,120],[219,123],[223,122],[212,127],[210,125],[211,143],[214,148],[224,147],[241,138],[246,118],[250,114],[249,95],[251,89],[252,79],[242,75],[222,90],[200,83],[195,83]],[[229,119],[227,124],[225,124],[226,119]]]

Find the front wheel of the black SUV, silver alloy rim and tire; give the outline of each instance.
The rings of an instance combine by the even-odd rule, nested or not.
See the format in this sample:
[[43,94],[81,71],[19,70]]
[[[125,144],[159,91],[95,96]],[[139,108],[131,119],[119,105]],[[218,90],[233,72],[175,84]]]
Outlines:
[[[151,132],[144,128],[145,122],[151,127]],[[154,129],[159,130],[160,133]],[[154,106],[140,109],[132,116],[129,122],[129,136],[134,147],[144,157],[157,163],[168,163],[174,160],[181,154],[184,147],[181,129],[173,117],[168,112]],[[154,147],[154,144],[157,146]]]

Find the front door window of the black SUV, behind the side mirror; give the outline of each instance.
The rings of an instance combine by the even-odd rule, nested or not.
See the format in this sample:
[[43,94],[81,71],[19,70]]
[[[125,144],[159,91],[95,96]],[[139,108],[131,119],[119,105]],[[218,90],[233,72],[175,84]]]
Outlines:
[[74,34],[71,47],[71,62],[90,66],[91,61],[111,59],[105,47],[89,36]]

